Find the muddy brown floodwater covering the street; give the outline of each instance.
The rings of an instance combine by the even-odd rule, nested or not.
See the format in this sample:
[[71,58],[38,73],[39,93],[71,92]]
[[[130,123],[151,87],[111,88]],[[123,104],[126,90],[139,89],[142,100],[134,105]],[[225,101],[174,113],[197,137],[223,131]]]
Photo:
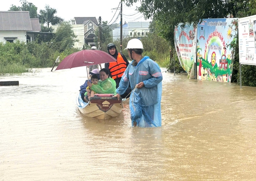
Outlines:
[[[0,181],[255,181],[256,87],[163,70],[162,127],[78,111],[85,68],[2,76]],[[55,69],[54,69],[55,70]]]

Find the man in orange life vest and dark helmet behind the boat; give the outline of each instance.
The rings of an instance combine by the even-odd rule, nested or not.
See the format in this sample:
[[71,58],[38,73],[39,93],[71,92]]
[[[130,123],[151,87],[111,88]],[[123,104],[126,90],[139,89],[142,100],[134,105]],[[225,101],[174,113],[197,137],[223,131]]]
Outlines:
[[[117,59],[116,62],[105,63],[105,68],[110,72],[110,77],[116,81],[116,88],[119,87],[119,82],[122,78],[123,73],[129,65],[128,60],[122,54],[117,52],[116,45],[114,43],[109,43],[107,45],[108,54]],[[124,94],[121,95],[125,98],[131,92],[131,87],[129,86]]]

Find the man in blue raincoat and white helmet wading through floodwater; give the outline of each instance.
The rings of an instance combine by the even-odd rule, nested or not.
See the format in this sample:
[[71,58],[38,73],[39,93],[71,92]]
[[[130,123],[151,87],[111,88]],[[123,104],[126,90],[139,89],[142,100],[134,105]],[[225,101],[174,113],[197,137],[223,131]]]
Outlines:
[[134,38],[128,41],[126,49],[133,60],[125,72],[117,88],[118,99],[131,85],[130,110],[132,126],[161,126],[162,73],[157,63],[148,56],[142,56],[143,45]]

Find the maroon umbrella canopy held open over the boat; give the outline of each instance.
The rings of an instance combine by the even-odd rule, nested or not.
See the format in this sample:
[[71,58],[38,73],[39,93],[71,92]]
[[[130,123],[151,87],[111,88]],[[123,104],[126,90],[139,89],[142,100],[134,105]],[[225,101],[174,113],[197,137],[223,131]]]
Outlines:
[[116,59],[101,50],[81,50],[64,58],[56,70],[114,62]]

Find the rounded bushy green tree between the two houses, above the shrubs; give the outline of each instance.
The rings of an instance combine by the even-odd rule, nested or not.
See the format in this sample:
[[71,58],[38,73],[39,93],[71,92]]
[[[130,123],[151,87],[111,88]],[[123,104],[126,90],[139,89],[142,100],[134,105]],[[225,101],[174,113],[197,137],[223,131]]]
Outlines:
[[72,30],[71,24],[65,21],[57,28],[49,44],[53,49],[63,52],[65,49],[72,48],[75,42],[78,42],[76,38],[77,36]]

